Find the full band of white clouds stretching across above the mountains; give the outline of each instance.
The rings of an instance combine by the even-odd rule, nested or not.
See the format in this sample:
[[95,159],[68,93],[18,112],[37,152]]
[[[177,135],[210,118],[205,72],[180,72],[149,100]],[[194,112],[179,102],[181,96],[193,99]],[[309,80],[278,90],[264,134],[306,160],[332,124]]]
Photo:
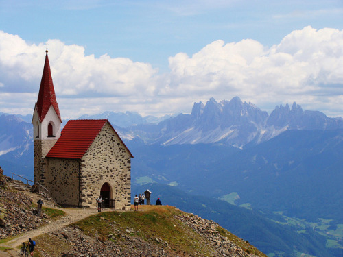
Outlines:
[[[33,110],[44,50],[43,42],[29,45],[0,32],[0,111]],[[296,101],[343,116],[343,31],[338,29],[305,27],[272,47],[250,39],[217,40],[193,56],[170,57],[164,74],[128,58],[86,56],[84,47],[60,40],[49,40],[49,61],[61,113],[68,118],[104,110],[190,112],[193,101],[236,95],[263,110]]]

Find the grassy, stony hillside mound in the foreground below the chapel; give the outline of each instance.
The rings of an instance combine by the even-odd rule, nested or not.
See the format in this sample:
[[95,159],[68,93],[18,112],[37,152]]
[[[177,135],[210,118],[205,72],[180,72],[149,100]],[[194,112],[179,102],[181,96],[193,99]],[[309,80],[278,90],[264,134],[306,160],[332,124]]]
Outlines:
[[171,206],[140,209],[102,212],[40,236],[38,250],[44,249],[42,256],[92,252],[97,256],[265,256],[213,221]]

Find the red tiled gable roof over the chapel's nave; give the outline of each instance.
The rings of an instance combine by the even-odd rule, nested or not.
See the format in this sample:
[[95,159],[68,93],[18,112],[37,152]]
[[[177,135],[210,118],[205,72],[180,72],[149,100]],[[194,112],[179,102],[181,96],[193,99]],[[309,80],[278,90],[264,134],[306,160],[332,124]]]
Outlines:
[[[69,120],[47,157],[81,159],[106,123],[110,125],[107,119]],[[112,127],[112,125],[110,126]],[[115,129],[113,130],[117,134]],[[118,134],[117,136],[120,139]],[[122,140],[121,143],[123,143]],[[123,145],[126,147],[124,143]],[[126,149],[133,158],[128,147]]]

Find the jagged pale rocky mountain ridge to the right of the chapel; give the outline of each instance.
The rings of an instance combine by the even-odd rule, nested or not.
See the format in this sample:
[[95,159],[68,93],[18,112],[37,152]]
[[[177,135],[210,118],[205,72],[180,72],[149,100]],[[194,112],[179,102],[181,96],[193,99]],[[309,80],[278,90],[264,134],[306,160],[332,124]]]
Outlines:
[[342,118],[330,118],[322,112],[309,111],[295,102],[276,106],[270,115],[253,103],[239,97],[230,101],[215,101],[212,97],[204,105],[194,103],[191,114],[179,114],[158,125],[136,125],[130,134],[146,143],[161,145],[220,143],[244,147],[257,145],[286,130],[335,130],[343,128]]

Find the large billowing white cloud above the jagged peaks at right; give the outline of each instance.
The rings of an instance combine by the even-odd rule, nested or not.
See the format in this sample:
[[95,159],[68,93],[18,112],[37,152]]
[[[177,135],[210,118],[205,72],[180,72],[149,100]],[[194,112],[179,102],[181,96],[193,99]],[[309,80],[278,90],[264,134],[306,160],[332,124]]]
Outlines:
[[162,95],[238,95],[258,106],[294,100],[307,104],[305,99],[313,96],[320,104],[318,96],[343,94],[343,31],[305,27],[268,49],[255,40],[217,40],[191,57],[178,53],[169,58],[169,68]]

